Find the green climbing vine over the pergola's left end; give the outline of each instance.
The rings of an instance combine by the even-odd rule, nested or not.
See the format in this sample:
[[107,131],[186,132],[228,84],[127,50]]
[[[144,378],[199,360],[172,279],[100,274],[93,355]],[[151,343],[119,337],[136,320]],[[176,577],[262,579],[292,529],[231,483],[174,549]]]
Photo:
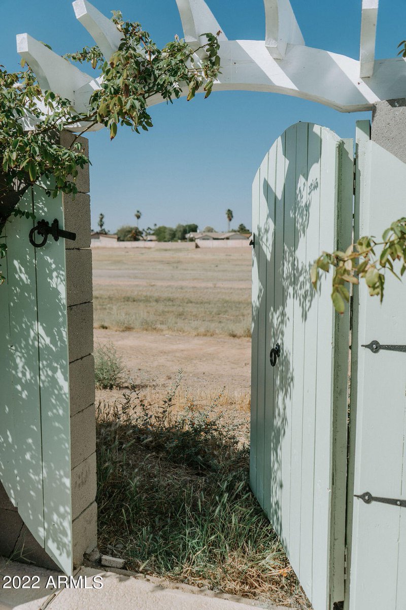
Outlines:
[[[206,98],[210,95],[220,71],[220,32],[204,34],[207,42],[198,49],[178,37],[160,49],[141,24],[124,21],[118,11],[113,12],[113,21],[122,34],[113,56],[103,57],[97,46],[65,56],[88,63],[102,76],[85,113],[76,112],[71,101],[53,91],[42,91],[24,61],[23,70],[15,73],[0,66],[0,235],[10,216],[22,213],[18,202],[26,190],[41,187],[41,178],[47,179],[43,188],[49,196],[77,193],[78,170],[89,163],[78,138],[89,129],[97,124],[107,127],[111,139],[119,126],[148,131],[153,126],[148,112],[153,96],[172,102],[185,85],[188,100],[200,90]],[[64,129],[80,132],[69,146],[61,143]],[[0,243],[0,258],[6,250]]]

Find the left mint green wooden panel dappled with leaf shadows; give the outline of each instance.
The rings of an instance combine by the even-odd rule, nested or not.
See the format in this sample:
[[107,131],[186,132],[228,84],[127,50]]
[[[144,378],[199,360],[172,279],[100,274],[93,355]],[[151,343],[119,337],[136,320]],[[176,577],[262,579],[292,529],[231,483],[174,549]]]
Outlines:
[[[41,187],[21,209],[58,218],[62,199]],[[29,243],[32,220],[13,218],[0,286],[0,479],[27,528],[65,573],[72,571],[69,359],[65,244]]]

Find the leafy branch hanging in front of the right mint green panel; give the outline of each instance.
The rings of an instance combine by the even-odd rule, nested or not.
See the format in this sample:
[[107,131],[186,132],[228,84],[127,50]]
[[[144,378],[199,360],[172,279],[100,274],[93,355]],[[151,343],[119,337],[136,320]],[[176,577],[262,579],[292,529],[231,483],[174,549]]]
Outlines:
[[[379,254],[377,254],[379,248]],[[399,274],[394,264],[401,263]],[[382,241],[374,237],[361,237],[345,252],[323,252],[313,264],[310,276],[317,288],[320,271],[328,273],[334,268],[331,298],[335,310],[343,314],[349,301],[349,284],[359,284],[364,279],[371,296],[379,296],[382,303],[385,271],[389,270],[399,281],[406,271],[406,217],[394,221],[382,234]]]

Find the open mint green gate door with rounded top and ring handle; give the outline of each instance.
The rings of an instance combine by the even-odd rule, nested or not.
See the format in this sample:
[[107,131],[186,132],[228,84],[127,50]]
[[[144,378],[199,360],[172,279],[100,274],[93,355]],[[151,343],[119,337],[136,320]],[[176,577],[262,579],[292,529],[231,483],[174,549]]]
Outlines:
[[310,267],[351,223],[352,140],[289,127],[253,184],[251,486],[315,610],[344,598],[349,315]]

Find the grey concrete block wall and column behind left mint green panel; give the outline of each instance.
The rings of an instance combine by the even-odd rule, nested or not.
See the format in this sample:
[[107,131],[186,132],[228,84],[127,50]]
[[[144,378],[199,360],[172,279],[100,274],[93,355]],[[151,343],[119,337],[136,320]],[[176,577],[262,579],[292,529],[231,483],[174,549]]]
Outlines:
[[[61,134],[68,146],[74,135]],[[79,138],[88,155],[88,140]],[[68,305],[69,389],[71,409],[72,544],[74,567],[97,544],[96,418],[93,359],[92,262],[89,166],[79,170],[79,193],[63,195]],[[57,569],[19,516],[0,483],[0,555]]]

